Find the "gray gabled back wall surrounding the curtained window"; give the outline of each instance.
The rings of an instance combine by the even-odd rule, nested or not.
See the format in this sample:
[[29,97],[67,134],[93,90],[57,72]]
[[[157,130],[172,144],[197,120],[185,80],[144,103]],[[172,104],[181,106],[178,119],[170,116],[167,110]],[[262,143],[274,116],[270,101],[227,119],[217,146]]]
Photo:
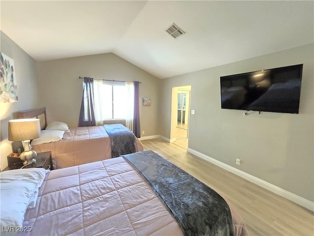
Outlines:
[[[158,94],[161,81],[115,54],[98,54],[37,63],[40,105],[47,107],[48,122],[59,120],[78,126],[82,99],[79,76],[94,79],[140,81],[140,119],[143,136],[156,135]],[[151,106],[142,106],[142,97],[151,98]]]

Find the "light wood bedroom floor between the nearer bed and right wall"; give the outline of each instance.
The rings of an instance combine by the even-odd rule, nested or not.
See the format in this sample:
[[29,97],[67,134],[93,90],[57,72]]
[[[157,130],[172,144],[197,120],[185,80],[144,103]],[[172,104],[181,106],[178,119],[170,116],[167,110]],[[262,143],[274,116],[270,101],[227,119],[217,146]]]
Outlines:
[[162,139],[141,141],[226,196],[251,236],[314,236],[314,213]]

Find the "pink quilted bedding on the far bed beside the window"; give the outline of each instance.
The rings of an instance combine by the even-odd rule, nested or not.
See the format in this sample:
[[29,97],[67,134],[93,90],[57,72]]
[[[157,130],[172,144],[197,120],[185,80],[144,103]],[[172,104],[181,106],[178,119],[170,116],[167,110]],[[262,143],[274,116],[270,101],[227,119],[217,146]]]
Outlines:
[[[77,166],[111,158],[110,138],[104,126],[69,128],[61,141],[34,145],[37,152],[51,151],[53,169]],[[135,138],[136,151],[143,145]]]

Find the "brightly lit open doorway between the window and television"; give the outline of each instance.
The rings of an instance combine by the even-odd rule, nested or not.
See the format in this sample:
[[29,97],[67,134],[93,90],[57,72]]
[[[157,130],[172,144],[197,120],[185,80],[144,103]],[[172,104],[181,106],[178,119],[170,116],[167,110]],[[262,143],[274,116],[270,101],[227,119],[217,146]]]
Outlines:
[[191,86],[172,89],[172,112],[170,140],[184,149],[188,147],[188,126]]

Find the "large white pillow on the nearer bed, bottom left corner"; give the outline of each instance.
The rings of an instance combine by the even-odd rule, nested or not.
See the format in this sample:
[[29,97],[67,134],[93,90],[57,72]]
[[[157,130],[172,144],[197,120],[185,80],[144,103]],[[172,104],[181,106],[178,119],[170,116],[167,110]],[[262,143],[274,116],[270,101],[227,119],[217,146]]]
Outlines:
[[[43,184],[47,171],[44,168],[30,168],[0,173],[0,228],[10,229],[23,226],[24,215],[31,199]],[[31,203],[33,204],[33,203]],[[35,202],[36,204],[36,202]],[[33,206],[35,207],[35,204]],[[1,232],[1,234],[9,232]]]

